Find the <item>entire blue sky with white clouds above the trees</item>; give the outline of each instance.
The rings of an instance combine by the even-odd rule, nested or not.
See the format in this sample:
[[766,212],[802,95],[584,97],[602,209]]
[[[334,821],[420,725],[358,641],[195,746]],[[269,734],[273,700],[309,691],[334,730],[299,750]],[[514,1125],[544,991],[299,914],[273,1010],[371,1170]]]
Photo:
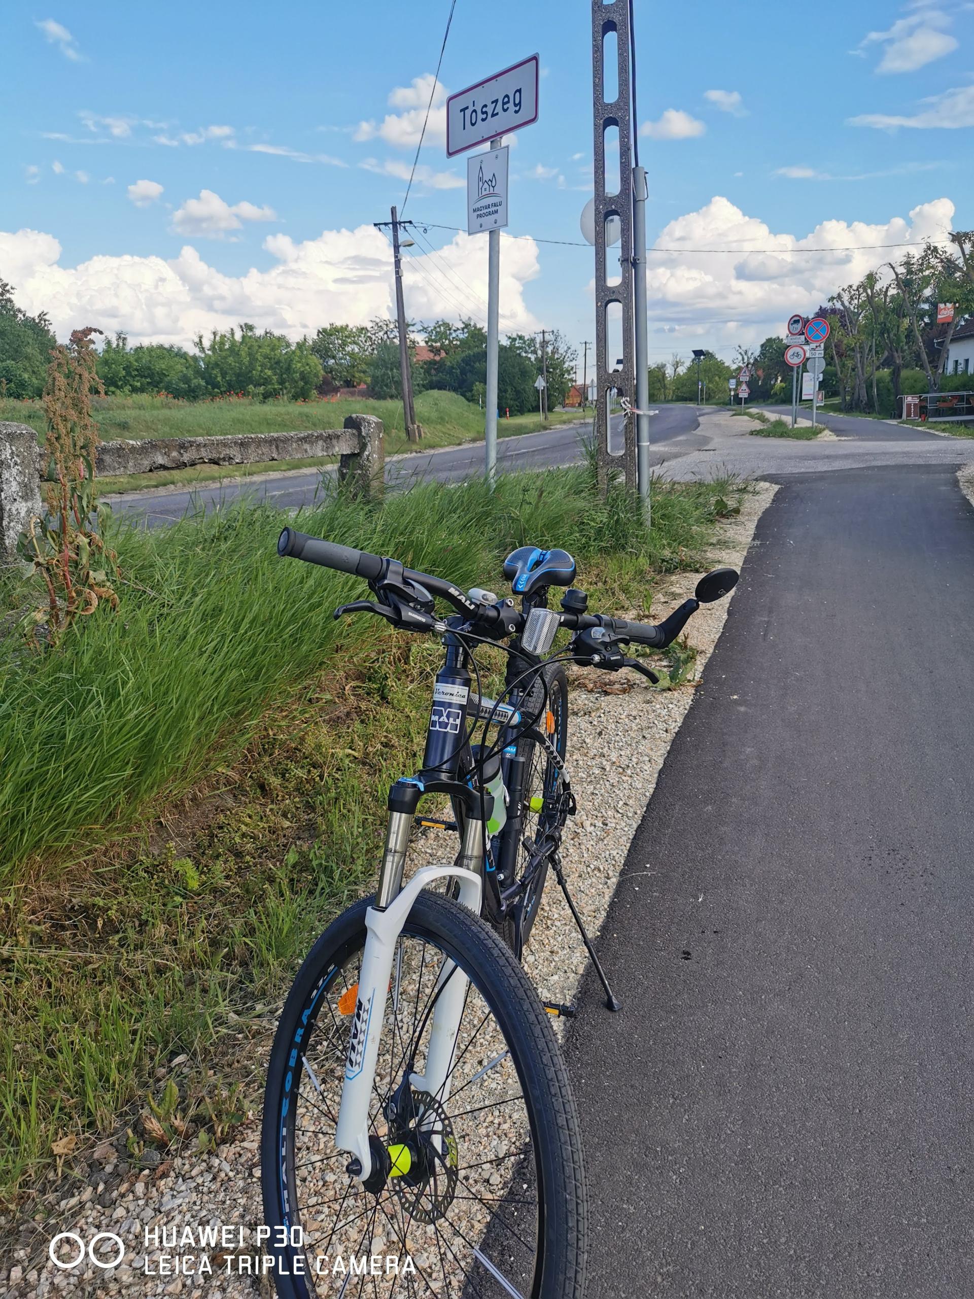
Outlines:
[[[449,0],[0,13],[0,277],[58,331],[179,342],[234,320],[291,334],[386,314],[371,222],[401,205]],[[910,243],[974,225],[974,4],[636,0],[653,359],[780,331]],[[592,338],[590,6],[458,0],[440,73],[462,88],[538,52],[540,120],[512,149],[503,327]],[[425,79],[423,79],[425,78]],[[419,79],[419,81],[417,81]],[[442,99],[406,216],[465,221]],[[910,212],[914,216],[910,217]],[[853,252],[805,252],[847,248]],[[435,256],[426,249],[435,249]],[[418,318],[483,316],[487,247],[427,225]]]

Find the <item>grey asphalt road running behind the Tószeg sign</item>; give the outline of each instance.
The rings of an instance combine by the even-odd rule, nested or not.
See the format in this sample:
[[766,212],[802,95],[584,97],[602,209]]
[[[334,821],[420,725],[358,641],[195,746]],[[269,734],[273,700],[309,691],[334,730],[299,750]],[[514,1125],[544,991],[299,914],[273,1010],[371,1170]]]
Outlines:
[[[613,417],[614,429],[619,427],[621,421],[622,416]],[[500,473],[506,473],[512,469],[551,469],[575,464],[582,459],[582,439],[591,435],[591,422],[561,425],[543,433],[500,438],[497,469]],[[662,407],[658,416],[653,417],[653,440],[666,444],[675,453],[695,451],[706,444],[705,438],[695,434],[696,427],[697,416],[693,407]],[[477,473],[483,473],[482,442],[447,447],[442,451],[410,452],[391,457],[386,462],[386,482],[399,488],[408,488],[419,478],[458,482]],[[282,509],[297,509],[313,504],[319,486],[321,470],[314,469],[268,474],[260,479],[219,483],[199,487],[195,491],[173,488],[131,492],[116,496],[112,507],[116,513],[144,518],[149,527],[158,527],[175,522],[190,511],[216,509],[239,498],[266,501]]]

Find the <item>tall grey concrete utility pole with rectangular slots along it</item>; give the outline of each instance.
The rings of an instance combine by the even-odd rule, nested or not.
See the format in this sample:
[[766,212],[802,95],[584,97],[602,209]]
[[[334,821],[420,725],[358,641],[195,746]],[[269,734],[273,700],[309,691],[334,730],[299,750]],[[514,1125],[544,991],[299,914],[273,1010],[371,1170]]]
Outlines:
[[[605,38],[616,34],[617,95],[605,100]],[[614,446],[610,434],[610,390],[636,405],[634,366],[634,314],[632,314],[632,140],[629,70],[629,0],[604,4],[592,0],[592,109],[593,109],[593,175],[595,175],[595,443],[599,452],[599,483],[605,488],[610,474],[625,472],[626,486],[636,490],[636,425],[627,416],[625,439]],[[609,56],[612,58],[612,55]],[[610,69],[612,73],[612,69]],[[616,194],[605,192],[605,132],[617,127],[619,139],[619,187]],[[609,284],[606,275],[605,222],[617,217],[621,227],[621,279]],[[609,356],[608,310],[618,304],[622,316],[622,364]]]

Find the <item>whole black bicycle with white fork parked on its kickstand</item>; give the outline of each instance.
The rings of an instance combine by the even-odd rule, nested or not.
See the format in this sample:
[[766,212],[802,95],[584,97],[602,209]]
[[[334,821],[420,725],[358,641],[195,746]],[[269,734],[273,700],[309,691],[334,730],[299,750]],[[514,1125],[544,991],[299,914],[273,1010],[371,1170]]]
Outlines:
[[[738,574],[701,578],[652,626],[590,614],[561,549],[521,547],[504,561],[521,608],[290,527],[278,553],[369,583],[375,599],[336,618],[370,613],[444,650],[421,770],[390,790],[377,892],[314,944],[274,1039],[261,1161],[278,1295],[370,1285],[383,1296],[581,1299],[578,1116],[551,1028],[574,1012],[540,1003],[519,965],[551,869],[618,1009],[561,865],[575,812],[564,664],[657,681],[621,647],[665,648]],[[568,588],[560,611],[548,608],[552,587]],[[439,614],[436,600],[455,612]],[[562,627],[570,643],[549,655]],[[481,690],[482,646],[506,653],[496,700]],[[430,795],[449,798],[452,821],[418,814]],[[404,883],[417,824],[455,833],[460,848]],[[383,1254],[387,1242],[397,1252]]]

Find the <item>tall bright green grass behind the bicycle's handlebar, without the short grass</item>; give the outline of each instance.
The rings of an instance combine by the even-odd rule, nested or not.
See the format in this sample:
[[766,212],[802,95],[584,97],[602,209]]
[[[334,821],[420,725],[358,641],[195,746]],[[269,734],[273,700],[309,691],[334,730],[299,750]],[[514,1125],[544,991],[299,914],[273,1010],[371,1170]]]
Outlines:
[[[671,568],[704,540],[712,485],[655,492],[653,527],[586,468],[419,485],[366,509],[334,495],[299,526],[393,555],[461,586],[493,581],[529,542]],[[119,616],[86,620],[62,652],[0,643],[0,885],[32,855],[70,860],[238,751],[269,704],[368,635],[332,621],[355,578],[279,560],[277,511],[236,507],[162,531],[119,526]],[[582,569],[583,572],[583,569]]]

